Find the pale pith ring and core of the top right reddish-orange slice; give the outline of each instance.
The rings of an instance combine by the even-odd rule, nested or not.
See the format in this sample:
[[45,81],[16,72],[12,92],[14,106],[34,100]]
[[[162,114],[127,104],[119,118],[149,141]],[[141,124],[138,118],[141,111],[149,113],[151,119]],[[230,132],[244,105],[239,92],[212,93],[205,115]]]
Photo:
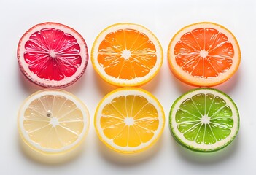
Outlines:
[[[194,77],[191,74],[185,72],[176,62],[176,55],[174,54],[174,47],[177,44],[177,42],[180,40],[180,38],[186,34],[189,31],[193,31],[195,28],[215,28],[217,31],[219,31],[222,34],[225,34],[225,36],[228,37],[228,41],[231,42],[233,45],[234,50],[234,56],[233,56],[233,63],[230,69],[228,71],[219,74],[218,77],[212,77],[212,78],[201,78],[201,77]],[[201,50],[200,55],[205,58],[208,53],[206,53],[205,50]],[[181,79],[185,80],[186,82],[189,81],[192,84],[195,85],[216,85],[220,82],[224,82],[225,80],[230,77],[230,75],[234,74],[236,71],[239,63],[240,63],[240,49],[238,46],[238,43],[236,42],[236,38],[233,36],[233,34],[230,33],[225,28],[222,28],[221,26],[214,24],[214,23],[195,23],[194,25],[187,26],[182,29],[182,31],[179,31],[174,38],[171,40],[170,45],[168,46],[168,62],[171,65],[171,69],[174,69],[174,74],[177,74],[178,77],[181,77]]]

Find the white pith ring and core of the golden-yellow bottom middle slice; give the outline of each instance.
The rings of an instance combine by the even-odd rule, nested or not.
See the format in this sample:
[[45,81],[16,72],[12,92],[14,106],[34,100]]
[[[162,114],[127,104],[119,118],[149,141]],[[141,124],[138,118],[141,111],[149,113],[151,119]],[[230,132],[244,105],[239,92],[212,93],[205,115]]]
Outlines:
[[[141,143],[139,146],[137,147],[120,147],[117,144],[114,143],[113,139],[109,139],[104,135],[104,132],[101,128],[101,112],[104,109],[104,106],[106,106],[106,104],[109,104],[113,98],[116,98],[118,96],[128,96],[128,95],[134,95],[134,96],[143,96],[144,98],[147,99],[147,101],[152,104],[153,106],[155,106],[155,109],[157,109],[158,112],[158,121],[159,121],[159,125],[158,125],[158,129],[155,131],[154,136],[152,137],[152,139],[150,139],[150,141],[147,141],[147,143]],[[152,95],[151,95],[152,96]],[[102,99],[101,103],[98,104],[98,108],[95,114],[95,120],[96,120],[96,131],[98,131],[98,135],[99,137],[101,137],[101,139],[108,144],[110,147],[112,147],[112,149],[121,151],[121,152],[138,152],[140,149],[144,149],[145,147],[150,147],[150,145],[156,141],[159,137],[160,134],[163,131],[163,127],[164,127],[164,123],[165,123],[165,117],[164,117],[164,113],[163,113],[163,107],[160,106],[159,102],[156,101],[154,98],[150,97],[150,95],[142,90],[137,90],[136,88],[132,89],[127,89],[127,90],[117,90],[115,93],[112,93],[110,95],[106,95],[104,97],[104,99]],[[126,118],[126,120],[124,120],[124,123],[126,125],[131,125],[133,122],[132,119],[129,119],[128,117]]]

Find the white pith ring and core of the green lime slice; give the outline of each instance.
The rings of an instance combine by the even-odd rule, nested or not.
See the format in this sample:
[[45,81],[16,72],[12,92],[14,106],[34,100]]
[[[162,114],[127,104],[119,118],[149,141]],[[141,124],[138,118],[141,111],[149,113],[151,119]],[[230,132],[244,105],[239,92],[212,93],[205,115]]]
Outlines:
[[[201,144],[198,144],[195,141],[189,141],[185,138],[184,133],[181,133],[177,128],[177,125],[179,125],[179,124],[175,120],[175,115],[177,113],[177,110],[179,109],[179,106],[187,98],[192,98],[193,96],[195,96],[196,94],[199,94],[199,93],[203,93],[203,94],[211,93],[214,96],[219,96],[226,102],[227,106],[230,106],[230,109],[233,114],[233,116],[232,116],[233,117],[233,128],[230,129],[231,130],[230,135],[227,136],[225,139],[222,139],[221,141],[216,141],[216,143],[214,143],[214,144],[205,144],[203,142]],[[207,117],[208,116],[202,117],[201,125],[203,123],[209,124],[209,119]],[[214,150],[214,149],[223,147],[223,146],[225,146],[225,144],[227,144],[228,142],[230,142],[234,139],[234,137],[236,136],[236,133],[238,131],[238,127],[239,127],[239,117],[238,117],[238,113],[236,111],[236,106],[234,106],[233,102],[230,101],[230,99],[227,96],[223,95],[222,93],[220,93],[216,90],[211,90],[211,89],[193,90],[192,92],[185,94],[185,96],[182,96],[182,98],[179,98],[179,101],[177,101],[177,103],[175,104],[174,108],[171,111],[171,131],[174,133],[175,136],[177,136],[177,139],[179,141],[181,141],[187,147],[190,147],[192,149],[207,151],[207,150]]]

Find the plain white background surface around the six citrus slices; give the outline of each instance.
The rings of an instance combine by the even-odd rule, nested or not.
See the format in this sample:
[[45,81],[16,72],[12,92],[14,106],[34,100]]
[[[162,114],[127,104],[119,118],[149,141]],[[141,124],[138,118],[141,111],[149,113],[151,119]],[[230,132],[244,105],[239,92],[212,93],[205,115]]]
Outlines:
[[[256,1],[66,1],[0,0],[0,174],[255,174],[256,123]],[[166,127],[154,147],[141,155],[118,155],[96,136],[93,123],[83,151],[73,160],[49,165],[32,160],[20,148],[17,113],[23,100],[42,88],[20,74],[16,50],[20,37],[36,23],[53,21],[77,30],[88,44],[113,23],[139,23],[149,28],[164,50],[159,74],[142,86],[154,94],[166,112]],[[168,129],[168,112],[176,98],[192,89],[168,69],[166,50],[171,37],[183,26],[201,21],[230,29],[241,47],[241,65],[217,89],[236,102],[241,128],[236,140],[214,153],[191,152],[176,143]],[[115,87],[98,77],[89,61],[85,74],[69,88],[88,106],[90,117],[98,102]]]

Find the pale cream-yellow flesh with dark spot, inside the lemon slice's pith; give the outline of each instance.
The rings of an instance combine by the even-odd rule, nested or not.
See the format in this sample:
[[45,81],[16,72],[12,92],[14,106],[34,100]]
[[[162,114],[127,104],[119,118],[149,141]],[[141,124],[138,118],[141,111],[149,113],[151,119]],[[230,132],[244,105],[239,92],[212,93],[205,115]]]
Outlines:
[[73,101],[64,96],[42,96],[29,104],[23,126],[34,143],[46,149],[60,149],[78,139],[84,122]]

